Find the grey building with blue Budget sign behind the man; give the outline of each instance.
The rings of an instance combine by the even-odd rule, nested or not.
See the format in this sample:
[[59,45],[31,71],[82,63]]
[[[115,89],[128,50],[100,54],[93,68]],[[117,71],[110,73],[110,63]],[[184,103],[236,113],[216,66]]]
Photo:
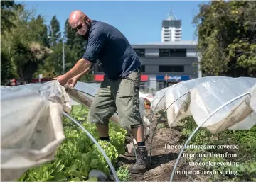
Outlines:
[[[194,65],[198,62],[196,46],[197,42],[192,40],[132,45],[142,62],[142,91],[158,91],[179,81],[198,78],[198,66]],[[95,81],[102,81],[102,69],[96,67],[94,71]]]

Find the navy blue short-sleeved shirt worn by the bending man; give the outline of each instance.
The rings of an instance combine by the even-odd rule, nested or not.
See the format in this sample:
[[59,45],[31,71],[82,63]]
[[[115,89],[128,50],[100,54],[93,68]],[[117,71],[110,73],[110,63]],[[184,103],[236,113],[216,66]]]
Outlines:
[[112,25],[101,21],[92,21],[88,33],[88,44],[84,59],[102,63],[105,76],[121,79],[141,67],[139,57],[127,38]]

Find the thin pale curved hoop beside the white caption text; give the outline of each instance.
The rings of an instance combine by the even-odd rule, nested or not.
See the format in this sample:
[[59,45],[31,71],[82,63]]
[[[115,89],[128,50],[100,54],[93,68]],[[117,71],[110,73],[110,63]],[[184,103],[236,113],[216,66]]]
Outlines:
[[246,95],[249,95],[250,96],[250,92],[246,92],[246,93],[242,93],[240,96],[237,96],[233,99],[231,99],[230,101],[226,102],[226,103],[223,103],[223,105],[221,105],[220,107],[216,108],[212,113],[210,113],[210,115],[208,115],[208,117],[203,121],[203,123],[201,123],[200,125],[198,125],[196,127],[195,130],[193,130],[192,134],[188,137],[188,140],[186,140],[186,143],[184,144],[183,148],[181,149],[181,152],[178,154],[178,158],[176,159],[176,162],[175,162],[175,165],[174,165],[174,169],[171,173],[171,178],[170,178],[170,182],[173,181],[173,178],[174,178],[174,174],[175,174],[175,170],[178,166],[178,161],[181,159],[181,155],[183,154],[183,151],[184,149],[186,149],[186,147],[188,146],[188,142],[191,140],[191,138],[193,137],[193,135],[196,134],[197,130],[204,124],[206,123],[206,121],[212,117],[215,113],[218,112],[218,110],[224,108],[225,106],[228,106],[228,104],[232,103],[233,101],[236,101],[238,100],[239,98],[242,98],[243,96],[246,96]]

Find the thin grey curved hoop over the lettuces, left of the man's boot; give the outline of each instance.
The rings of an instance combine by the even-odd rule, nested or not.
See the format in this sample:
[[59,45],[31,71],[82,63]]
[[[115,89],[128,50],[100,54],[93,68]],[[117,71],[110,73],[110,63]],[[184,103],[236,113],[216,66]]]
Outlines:
[[75,120],[74,118],[72,118],[70,115],[68,115],[67,113],[65,113],[63,111],[63,115],[65,115],[65,117],[69,118],[70,120],[72,120],[76,125],[78,125],[87,135],[88,137],[90,137],[90,139],[92,140],[92,142],[94,142],[96,144],[96,146],[98,147],[98,149],[100,149],[100,152],[102,152],[104,158],[107,161],[107,164],[109,164],[110,169],[112,171],[112,174],[114,176],[115,181],[119,182],[119,178],[117,176],[117,171],[114,170],[114,166],[112,165],[110,159],[107,157],[107,154],[104,152],[104,150],[102,149],[102,147],[100,147],[100,144],[95,140],[95,138],[90,134],[90,132],[88,132],[87,130],[85,130],[85,127],[82,127],[82,125],[80,125],[80,123],[78,123],[77,120]]

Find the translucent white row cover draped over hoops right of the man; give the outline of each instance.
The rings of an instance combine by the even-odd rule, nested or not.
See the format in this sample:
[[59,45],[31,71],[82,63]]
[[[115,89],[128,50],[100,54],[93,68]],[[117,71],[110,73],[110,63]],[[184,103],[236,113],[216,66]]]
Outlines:
[[[236,96],[250,91],[251,96],[230,103],[201,126],[206,127],[211,133],[226,129],[249,130],[256,124],[256,114],[255,111],[253,112],[256,104],[255,84],[256,78],[208,76],[182,81],[163,89],[162,93],[159,91],[158,96],[165,93],[164,108],[168,108],[178,97],[188,92],[166,110],[169,126],[178,125],[178,122],[188,115],[192,115],[196,124],[201,125],[215,109]],[[154,106],[151,106],[152,110],[156,107],[155,103],[156,101]]]

